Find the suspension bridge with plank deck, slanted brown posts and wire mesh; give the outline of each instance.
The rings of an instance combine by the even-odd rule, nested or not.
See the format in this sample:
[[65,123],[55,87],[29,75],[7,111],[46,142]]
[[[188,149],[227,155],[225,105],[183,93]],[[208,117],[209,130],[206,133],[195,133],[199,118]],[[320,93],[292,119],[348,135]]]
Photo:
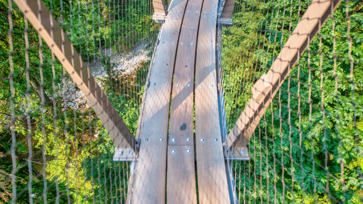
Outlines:
[[[248,182],[250,183],[253,181],[251,181],[251,178],[246,178],[246,168],[243,170],[245,178],[241,178],[241,176],[236,178],[237,168],[233,168],[233,165],[236,165],[235,163],[237,162],[244,162],[244,165],[246,165],[246,162],[249,162],[250,160],[256,161],[256,146],[254,146],[255,149],[253,149],[253,154],[250,153],[251,148],[249,148],[249,145],[252,142],[251,138],[254,138],[254,141],[256,142],[256,136],[254,136],[255,132],[261,132],[261,129],[263,129],[260,127],[260,123],[263,123],[264,121],[265,126],[267,123],[265,116],[266,111],[269,111],[269,108],[271,107],[269,114],[274,112],[272,111],[273,104],[271,103],[273,103],[274,98],[276,98],[275,96],[278,93],[280,93],[281,96],[281,90],[284,89],[283,84],[287,78],[288,83],[290,84],[290,72],[293,70],[294,66],[300,67],[300,64],[298,63],[300,57],[303,56],[304,52],[309,48],[313,39],[317,38],[315,35],[321,32],[322,26],[332,18],[331,14],[334,13],[337,6],[341,3],[341,0],[312,0],[304,12],[302,12],[303,15],[299,17],[294,29],[291,29],[291,32],[287,33],[285,41],[281,40],[281,49],[276,51],[276,55],[274,55],[270,65],[264,72],[256,71],[258,62],[257,60],[254,61],[255,56],[248,56],[249,59],[253,59],[252,64],[255,64],[256,67],[254,67],[254,65],[248,65],[245,69],[251,70],[250,72],[253,72],[255,69],[254,72],[259,72],[261,75],[252,80],[251,86],[239,85],[242,89],[249,89],[246,93],[250,93],[250,98],[245,105],[242,105],[242,107],[239,108],[240,111],[237,111],[238,114],[233,119],[234,125],[229,125],[230,127],[227,127],[226,111],[228,111],[228,107],[226,104],[228,103],[230,96],[234,97],[237,96],[237,94],[227,88],[229,85],[228,78],[233,77],[233,75],[227,75],[229,71],[226,71],[223,68],[224,47],[222,38],[225,38],[227,35],[224,33],[224,29],[233,28],[235,24],[240,23],[238,21],[236,23],[233,21],[234,11],[240,2],[236,1],[236,3],[235,0],[171,0],[170,2],[153,0],[151,9],[152,20],[155,21],[157,25],[160,25],[160,28],[155,41],[153,41],[153,43],[155,42],[154,50],[151,49],[152,55],[150,63],[148,64],[147,75],[144,76],[144,86],[142,87],[142,90],[140,89],[142,100],[138,105],[139,113],[137,128],[135,135],[133,135],[127,127],[127,124],[123,121],[122,116],[120,116],[115,109],[114,106],[116,104],[108,99],[103,87],[101,87],[90,73],[89,62],[85,63],[83,61],[85,58],[82,57],[82,54],[75,50],[73,41],[67,38],[67,34],[65,33],[66,28],[63,25],[60,26],[59,21],[52,16],[52,11],[49,9],[49,6],[42,0],[13,1],[22,11],[25,19],[29,21],[38,32],[41,39],[48,45],[62,67],[68,72],[78,89],[85,95],[88,102],[91,104],[93,111],[102,122],[103,127],[115,146],[114,151],[112,152],[113,157],[109,159],[113,160],[115,167],[117,162],[128,163],[128,165],[130,165],[128,166],[129,170],[127,173],[124,171],[124,174],[127,174],[124,175],[124,177],[127,177],[127,184],[123,187],[124,190],[119,190],[119,196],[121,197],[121,191],[126,192],[124,200],[122,198],[119,198],[119,200],[117,198],[112,198],[111,201],[111,203],[115,200],[116,203],[125,202],[127,204],[247,203],[247,201],[245,201],[243,187],[241,188],[241,181],[245,182],[247,179],[249,179]],[[9,5],[11,5],[11,1],[9,2]],[[86,6],[87,3],[89,2],[86,0]],[[100,6],[100,1],[97,3],[98,6]],[[106,7],[105,2],[103,3],[104,7]],[[113,7],[111,6],[111,3],[113,3]],[[108,4],[110,10],[116,10],[115,1],[109,1]],[[120,7],[119,2],[117,6]],[[125,6],[127,6],[127,3]],[[257,3],[250,8],[244,9],[246,12],[252,10],[256,11]],[[277,15],[279,15],[279,12],[284,12],[285,15],[285,9],[284,11],[282,9],[283,7],[278,11],[276,11],[277,9],[275,11],[272,9],[272,11],[267,11],[267,13],[272,12],[271,15],[273,16],[273,12],[277,12]],[[84,10],[82,11],[79,7],[78,18],[80,18],[81,12],[84,12]],[[291,13],[289,14],[290,19]],[[112,29],[111,19],[115,21],[115,11],[113,18],[111,18],[110,13],[108,14],[109,16],[104,15],[104,18],[107,19],[109,17],[110,21],[107,24],[104,23],[104,26],[110,26],[110,29]],[[11,12],[9,15],[9,24],[11,25]],[[254,23],[254,21],[258,21],[260,18],[260,14],[255,15],[255,20],[251,17],[251,24]],[[279,25],[278,20],[276,23],[273,23],[276,24],[275,29],[277,29],[277,26]],[[285,19],[282,27],[284,27],[284,24]],[[266,23],[265,25],[262,24],[262,26],[269,25]],[[257,30],[258,32],[262,30],[262,26]],[[273,27],[274,26],[275,25],[273,25]],[[114,33],[116,33],[116,28],[117,26],[114,25]],[[264,29],[266,31],[266,28]],[[11,36],[11,32],[9,33]],[[270,39],[271,36],[273,37],[270,32]],[[284,36],[284,34],[282,34],[282,36]],[[110,35],[110,42],[112,37],[113,36]],[[253,38],[253,36],[249,37]],[[120,39],[120,33],[118,38]],[[267,39],[266,36],[265,38]],[[116,41],[116,35],[114,39]],[[259,37],[258,42],[265,42],[263,40],[264,39]],[[274,51],[276,42],[275,37]],[[268,49],[272,49],[270,48],[270,44],[265,44],[268,45]],[[118,46],[120,49],[120,44]],[[248,46],[250,46],[250,50],[253,50],[253,45]],[[107,45],[104,45],[104,48],[106,47]],[[258,47],[261,46],[258,45]],[[101,41],[100,48],[102,48]],[[111,45],[109,45],[109,48],[111,48]],[[254,49],[256,50],[256,45]],[[311,52],[309,51],[309,54],[310,53]],[[244,54],[241,53],[241,55]],[[112,72],[110,77],[112,80]],[[246,78],[241,77],[240,81],[244,81],[245,79]],[[116,81],[117,86],[118,78],[113,78],[113,80]],[[248,78],[248,80],[251,79]],[[299,77],[297,81],[291,81],[291,83],[299,84],[300,87]],[[117,87],[113,88],[117,89]],[[299,100],[299,107],[296,113],[300,122],[298,122],[299,128],[295,131],[295,134],[297,135],[302,135],[300,128],[300,94],[301,93],[298,91],[297,99]],[[290,101],[290,95],[288,100]],[[42,99],[42,101],[42,104],[44,104],[44,99]],[[281,114],[280,98],[279,103]],[[235,108],[235,111],[237,109],[238,108]],[[322,107],[322,109],[324,109],[324,107]],[[291,108],[288,105],[288,111],[290,110]],[[12,118],[14,118],[14,116],[15,115],[13,115]],[[281,115],[280,119],[282,120]],[[286,123],[290,127],[291,134],[290,116],[288,120],[289,121]],[[271,126],[274,127],[273,122]],[[76,131],[77,130],[75,130],[75,132]],[[14,129],[12,129],[12,132],[14,132]],[[84,132],[84,126],[82,132]],[[278,132],[278,128],[276,132]],[[272,135],[274,135],[274,133],[272,133]],[[13,135],[13,139],[14,138],[15,133]],[[291,140],[289,141],[291,152],[293,145]],[[259,143],[261,146],[263,145],[260,136]],[[83,149],[84,144],[85,140],[83,138]],[[273,144],[275,145],[274,139]],[[281,146],[283,147],[283,145]],[[303,153],[301,140],[300,144],[297,146],[300,147],[300,149],[297,150],[299,155],[300,152],[301,156],[306,154]],[[284,153],[282,153],[282,155],[283,154]],[[253,158],[251,158],[252,155],[254,156]],[[259,155],[260,158],[262,158],[261,151],[259,152]],[[266,159],[267,157],[266,153]],[[292,163],[291,153],[290,156],[287,155],[285,157],[287,160],[291,159]],[[273,158],[275,161],[274,165],[276,165],[275,152]],[[241,164],[242,163],[240,163],[240,165]],[[284,169],[284,162],[282,162],[281,165]],[[300,167],[302,166],[301,163]],[[327,163],[325,163],[325,167],[326,166]],[[241,166],[238,168],[239,175],[241,174],[241,168]],[[14,172],[15,171],[16,169]],[[43,171],[45,170],[43,169]],[[114,171],[114,181],[111,180],[111,171],[109,172],[109,193],[107,184],[104,186],[106,195],[105,202],[107,202],[107,195],[108,197],[112,197],[112,186],[117,189],[117,173],[116,170]],[[249,169],[249,171],[252,170]],[[256,167],[254,171],[256,203],[256,198],[259,197],[258,190],[256,190],[256,179],[262,179],[262,175],[256,177]],[[261,171],[262,169],[260,169],[260,172]],[[268,172],[268,169],[266,171]],[[272,201],[276,203],[279,194],[276,190],[277,182],[280,184],[284,183],[283,200],[285,201],[284,176],[280,179],[276,179],[275,166],[273,171],[275,172],[274,183],[269,183],[270,180],[268,180],[267,176],[267,183],[260,182],[259,184],[261,186],[260,190],[264,189],[262,186],[267,184],[267,192],[269,191],[268,185],[270,184],[272,188],[275,189],[272,190],[272,192],[275,193],[275,199],[269,200],[269,193],[267,193],[268,200],[264,201],[264,198],[262,198],[260,194],[261,203],[269,203]],[[291,169],[289,171],[292,172]],[[293,177],[291,172],[288,174]],[[251,177],[251,172],[247,174],[247,176],[248,175]],[[105,171],[104,176],[104,180],[107,180]],[[46,177],[47,176],[44,178]],[[331,176],[327,177],[330,178]],[[12,183],[16,183],[15,178],[12,179]],[[100,176],[98,179],[100,183]],[[92,180],[96,180],[96,178],[92,178]],[[238,180],[238,183],[236,180]],[[294,188],[293,180],[294,179],[292,178],[291,189]],[[337,178],[337,180],[339,180],[339,178]],[[121,183],[120,178],[120,187]],[[301,185],[304,186],[304,184]],[[245,186],[245,184],[243,184],[243,186]],[[286,186],[286,188],[288,187]],[[246,189],[246,187],[244,187],[244,189]],[[291,189],[290,191],[293,191]],[[302,187],[302,189],[304,190],[304,187]],[[329,199],[331,199],[332,195],[329,193],[329,184],[322,189],[324,189],[323,191],[328,192]],[[97,192],[93,194],[93,197],[95,197],[95,194],[97,197]],[[242,194],[243,196],[241,196]],[[117,191],[115,197],[117,197]],[[13,199],[15,198],[13,197]],[[12,200],[12,202],[15,202],[15,200]],[[68,203],[70,202],[71,200],[69,199]],[[93,202],[95,202],[95,198],[93,199]],[[72,203],[76,202],[72,201]]]

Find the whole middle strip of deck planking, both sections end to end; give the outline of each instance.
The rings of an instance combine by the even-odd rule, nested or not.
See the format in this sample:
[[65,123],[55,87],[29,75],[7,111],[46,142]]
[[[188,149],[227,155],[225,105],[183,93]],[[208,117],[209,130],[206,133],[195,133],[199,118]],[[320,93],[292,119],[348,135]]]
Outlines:
[[199,25],[196,19],[200,17],[202,4],[203,0],[188,1],[179,37],[168,139],[167,202],[170,204],[197,204],[193,94]]

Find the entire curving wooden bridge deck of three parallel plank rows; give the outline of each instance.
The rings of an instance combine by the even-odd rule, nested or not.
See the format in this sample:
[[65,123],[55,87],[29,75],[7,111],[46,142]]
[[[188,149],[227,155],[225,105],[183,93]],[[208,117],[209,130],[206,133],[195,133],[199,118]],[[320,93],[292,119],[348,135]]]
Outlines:
[[170,3],[136,133],[132,204],[197,204],[197,193],[200,204],[231,203],[218,112],[217,8],[218,0]]

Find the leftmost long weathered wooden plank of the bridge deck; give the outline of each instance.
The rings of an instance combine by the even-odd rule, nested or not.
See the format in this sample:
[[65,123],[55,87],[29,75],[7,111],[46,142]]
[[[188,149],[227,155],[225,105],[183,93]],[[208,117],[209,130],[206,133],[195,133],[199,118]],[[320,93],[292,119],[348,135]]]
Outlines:
[[[186,2],[173,1],[171,4],[185,9]],[[176,12],[167,15],[152,59],[141,128],[136,133],[140,135],[140,149],[131,195],[133,204],[165,203],[171,83],[182,18],[183,15]]]

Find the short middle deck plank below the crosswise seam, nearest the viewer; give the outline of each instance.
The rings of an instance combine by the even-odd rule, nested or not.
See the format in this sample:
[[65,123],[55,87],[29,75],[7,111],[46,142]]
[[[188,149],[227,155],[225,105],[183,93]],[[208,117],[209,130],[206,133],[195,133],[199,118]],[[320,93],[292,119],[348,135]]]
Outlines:
[[168,147],[167,177],[168,204],[197,204],[194,146]]

